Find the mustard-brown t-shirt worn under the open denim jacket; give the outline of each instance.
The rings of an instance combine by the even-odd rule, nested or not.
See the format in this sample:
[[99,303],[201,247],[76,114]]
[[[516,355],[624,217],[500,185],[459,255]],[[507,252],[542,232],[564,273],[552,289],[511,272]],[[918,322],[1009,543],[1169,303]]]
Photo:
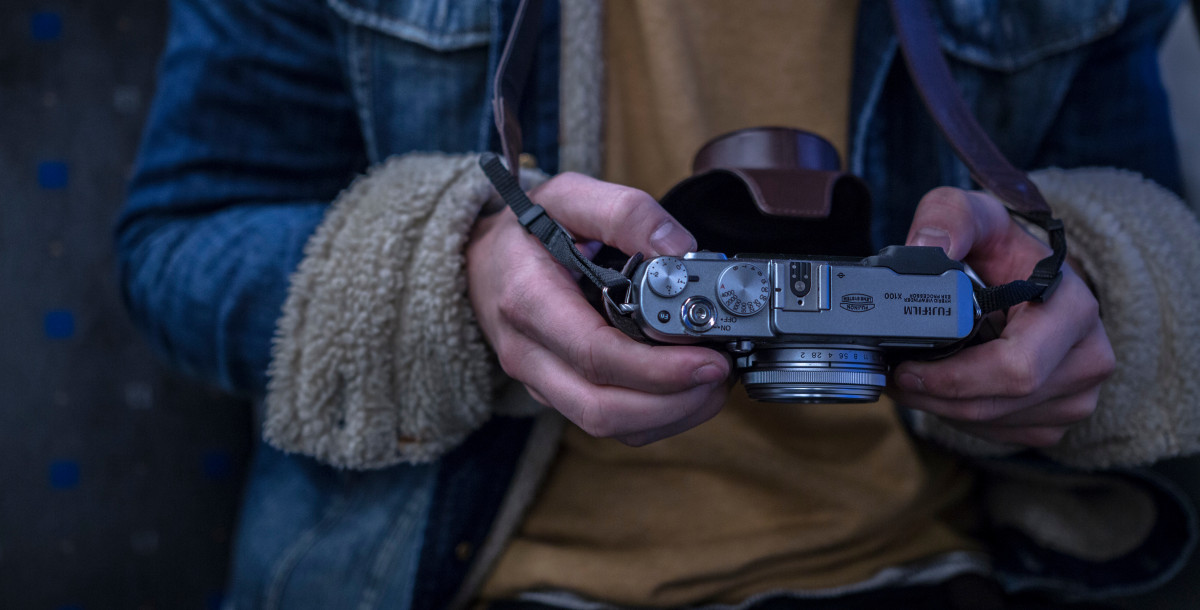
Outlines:
[[[845,152],[857,2],[605,5],[605,179],[661,196],[709,138],[796,126]],[[970,471],[894,405],[755,402],[641,448],[569,426],[485,598],[565,590],[629,605],[737,603],[839,587],[965,533]]]

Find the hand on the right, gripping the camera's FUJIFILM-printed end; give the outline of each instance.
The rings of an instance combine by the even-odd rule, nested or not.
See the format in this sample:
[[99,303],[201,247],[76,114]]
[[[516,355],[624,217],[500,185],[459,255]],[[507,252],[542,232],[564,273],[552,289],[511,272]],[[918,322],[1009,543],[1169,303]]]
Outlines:
[[[907,244],[941,246],[991,286],[1027,279],[1050,255],[996,198],[949,187],[920,201]],[[1009,309],[998,339],[943,360],[902,363],[893,371],[892,391],[901,405],[974,436],[1049,447],[1092,414],[1115,366],[1096,298],[1063,265],[1051,298]]]

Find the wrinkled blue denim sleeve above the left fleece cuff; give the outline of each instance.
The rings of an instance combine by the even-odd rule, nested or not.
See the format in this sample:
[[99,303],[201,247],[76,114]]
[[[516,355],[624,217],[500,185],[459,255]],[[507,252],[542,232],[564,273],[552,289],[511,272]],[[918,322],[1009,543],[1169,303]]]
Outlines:
[[179,369],[265,390],[288,276],[366,167],[316,0],[175,0],[116,226],[134,322]]

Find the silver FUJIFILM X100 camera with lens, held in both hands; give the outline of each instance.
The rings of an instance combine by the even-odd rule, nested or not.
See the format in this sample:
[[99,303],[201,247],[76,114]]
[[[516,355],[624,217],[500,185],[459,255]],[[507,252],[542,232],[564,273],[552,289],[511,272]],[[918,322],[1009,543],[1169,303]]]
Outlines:
[[982,318],[968,270],[937,247],[635,264],[623,303],[606,299],[610,317],[634,322],[616,325],[730,352],[750,397],[768,402],[878,400],[889,360],[948,353]]

